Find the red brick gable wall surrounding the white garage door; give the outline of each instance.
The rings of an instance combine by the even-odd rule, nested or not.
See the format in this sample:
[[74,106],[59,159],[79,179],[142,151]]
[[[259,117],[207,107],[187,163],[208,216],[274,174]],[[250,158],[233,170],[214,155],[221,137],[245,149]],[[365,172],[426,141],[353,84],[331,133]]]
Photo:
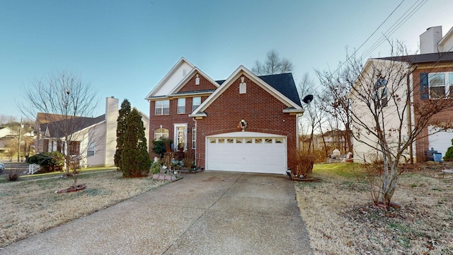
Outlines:
[[288,167],[294,169],[296,115],[282,113],[287,106],[247,77],[244,82],[246,94],[239,94],[241,81],[237,79],[207,107],[207,117],[197,120],[197,165],[205,166],[205,137],[236,132],[243,118],[248,123],[247,131],[287,136]]

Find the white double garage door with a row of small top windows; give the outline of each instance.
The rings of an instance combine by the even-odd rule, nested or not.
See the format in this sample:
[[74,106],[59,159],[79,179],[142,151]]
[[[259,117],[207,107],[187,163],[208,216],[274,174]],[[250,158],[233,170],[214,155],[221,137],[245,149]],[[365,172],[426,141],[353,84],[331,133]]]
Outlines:
[[286,137],[233,132],[207,137],[206,169],[286,174]]

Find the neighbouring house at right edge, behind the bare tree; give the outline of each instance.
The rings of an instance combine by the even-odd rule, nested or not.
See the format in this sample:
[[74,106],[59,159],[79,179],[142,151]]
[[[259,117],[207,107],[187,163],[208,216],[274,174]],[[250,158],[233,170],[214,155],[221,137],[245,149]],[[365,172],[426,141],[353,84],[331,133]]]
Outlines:
[[[413,92],[411,101],[408,102],[406,115],[403,116],[404,125],[401,127],[403,132],[413,130],[413,123],[423,116],[420,116],[415,107],[420,105],[425,100],[439,100],[444,96],[452,96],[453,93],[453,28],[442,37],[442,27],[428,28],[420,35],[420,52],[419,55],[405,55],[398,57],[379,57],[369,59],[362,69],[362,77],[372,72],[372,68],[381,66],[383,68],[392,65],[394,69],[398,69],[398,75],[406,82],[402,86],[398,94],[404,95],[410,89]],[[411,70],[411,71],[409,71]],[[403,77],[408,74],[407,78]],[[379,77],[377,77],[379,78]],[[379,86],[382,95],[385,94],[385,89],[391,81],[379,79],[375,86]],[[444,99],[450,100],[450,99]],[[395,106],[390,103],[391,98],[382,97],[381,106],[384,108],[384,117],[389,127],[396,127],[398,118],[395,117]],[[401,104],[406,104],[406,101],[401,101]],[[356,115],[361,115],[367,118],[367,110],[360,102],[353,102],[353,110]],[[363,112],[362,112],[363,111]],[[369,113],[368,113],[369,114]],[[449,111],[444,111],[440,114],[432,116],[428,126],[420,133],[418,140],[410,146],[403,157],[407,160],[412,159],[413,162],[425,161],[427,159],[425,152],[433,148],[437,152],[445,155],[447,148],[452,146],[453,132],[436,132],[436,125],[452,125],[453,123],[453,108]],[[436,124],[436,125],[435,125]],[[357,132],[357,129],[355,130]],[[363,132],[362,137],[369,137]],[[404,139],[404,137],[402,137]],[[370,140],[370,142],[372,142]],[[368,147],[362,142],[354,140],[354,157],[355,162],[367,161],[370,162],[377,156],[376,150]]]

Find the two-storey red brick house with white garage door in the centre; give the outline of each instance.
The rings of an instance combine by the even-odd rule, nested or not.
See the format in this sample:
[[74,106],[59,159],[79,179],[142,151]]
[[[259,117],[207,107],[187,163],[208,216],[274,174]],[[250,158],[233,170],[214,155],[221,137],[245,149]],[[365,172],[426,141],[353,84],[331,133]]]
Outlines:
[[270,174],[296,167],[304,110],[292,74],[257,77],[240,66],[215,81],[181,58],[146,99],[150,140],[169,137],[197,166]]

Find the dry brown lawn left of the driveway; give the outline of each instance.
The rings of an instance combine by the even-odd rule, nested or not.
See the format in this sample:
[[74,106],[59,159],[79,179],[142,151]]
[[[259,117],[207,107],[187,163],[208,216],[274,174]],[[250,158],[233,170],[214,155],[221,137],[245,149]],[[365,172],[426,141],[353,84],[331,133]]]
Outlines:
[[122,200],[164,185],[150,177],[123,179],[119,171],[81,174],[86,190],[55,193],[73,179],[38,179],[0,183],[0,247],[108,208]]

